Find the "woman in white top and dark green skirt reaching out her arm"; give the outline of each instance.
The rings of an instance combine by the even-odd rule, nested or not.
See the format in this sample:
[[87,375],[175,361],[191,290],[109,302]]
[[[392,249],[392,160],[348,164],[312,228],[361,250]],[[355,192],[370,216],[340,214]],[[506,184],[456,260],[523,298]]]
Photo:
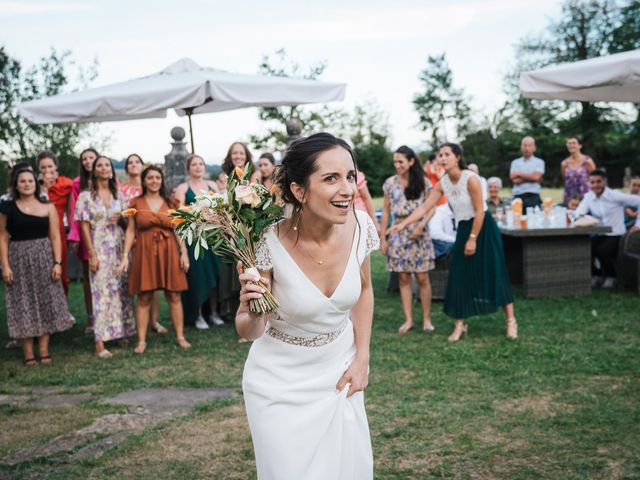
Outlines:
[[518,336],[513,293],[507,272],[500,230],[491,215],[485,215],[478,176],[466,169],[462,149],[455,143],[440,147],[446,175],[431,190],[421,207],[394,229],[420,220],[444,194],[453,210],[458,231],[451,255],[451,267],[444,300],[444,312],[456,320],[449,341],[456,342],[467,332],[465,320],[474,315],[504,309],[507,337]]

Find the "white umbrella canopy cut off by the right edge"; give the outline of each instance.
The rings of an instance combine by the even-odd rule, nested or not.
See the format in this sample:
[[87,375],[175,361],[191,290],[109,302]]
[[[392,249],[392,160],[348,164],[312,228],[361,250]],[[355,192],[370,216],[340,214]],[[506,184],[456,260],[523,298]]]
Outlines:
[[640,103],[640,49],[524,72],[519,83],[525,98]]

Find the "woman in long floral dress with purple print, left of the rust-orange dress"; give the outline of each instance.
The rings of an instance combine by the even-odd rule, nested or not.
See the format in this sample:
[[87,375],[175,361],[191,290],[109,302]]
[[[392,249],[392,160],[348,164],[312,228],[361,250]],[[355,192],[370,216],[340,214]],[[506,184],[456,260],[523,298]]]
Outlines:
[[127,201],[118,192],[113,165],[107,157],[96,159],[91,180],[91,189],[78,197],[75,218],[82,222],[82,241],[89,253],[96,355],[110,358],[104,342],[135,334],[127,280],[118,275],[124,242],[118,223]]

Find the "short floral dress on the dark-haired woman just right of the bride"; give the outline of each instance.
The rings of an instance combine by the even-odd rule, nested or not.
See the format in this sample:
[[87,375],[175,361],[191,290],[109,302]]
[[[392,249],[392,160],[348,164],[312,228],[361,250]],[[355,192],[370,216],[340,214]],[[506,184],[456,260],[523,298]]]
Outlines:
[[[416,208],[422,205],[431,188],[431,182],[425,179],[427,188],[415,200],[407,200],[404,188],[400,185],[397,175],[387,178],[382,186],[384,194],[389,197],[393,223],[411,215]],[[436,253],[429,236],[429,229],[424,228],[422,235],[417,240],[409,238],[416,224],[409,225],[404,230],[389,235],[387,241],[387,270],[390,272],[424,273],[435,268]]]

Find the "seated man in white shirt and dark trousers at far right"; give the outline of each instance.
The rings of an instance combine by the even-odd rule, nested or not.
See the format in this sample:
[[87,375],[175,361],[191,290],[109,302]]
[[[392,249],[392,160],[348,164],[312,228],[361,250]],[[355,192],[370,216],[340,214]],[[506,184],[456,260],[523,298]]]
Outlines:
[[[605,235],[594,235],[591,238],[591,256],[598,259],[599,267],[592,262],[592,285],[602,283],[605,288],[615,285],[616,257],[620,237],[625,234],[624,209],[631,205],[640,207],[640,196],[629,195],[607,187],[607,173],[596,169],[589,174],[590,192],[587,192],[576,209],[577,215],[589,214],[600,220],[602,225],[611,227]],[[640,230],[640,218],[636,220],[632,230]]]

